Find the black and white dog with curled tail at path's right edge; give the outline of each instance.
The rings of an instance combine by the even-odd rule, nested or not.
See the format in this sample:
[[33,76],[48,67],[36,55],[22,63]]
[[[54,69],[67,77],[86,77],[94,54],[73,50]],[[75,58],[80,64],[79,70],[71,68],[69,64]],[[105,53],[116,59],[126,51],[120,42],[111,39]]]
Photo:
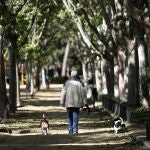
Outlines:
[[126,131],[126,125],[121,117],[117,117],[113,120],[113,130],[115,134],[117,134],[118,131]]

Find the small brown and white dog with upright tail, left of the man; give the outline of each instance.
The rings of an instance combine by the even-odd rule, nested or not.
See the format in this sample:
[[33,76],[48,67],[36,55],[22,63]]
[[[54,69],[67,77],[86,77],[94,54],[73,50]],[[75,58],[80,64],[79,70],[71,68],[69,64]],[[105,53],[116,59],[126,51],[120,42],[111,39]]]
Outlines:
[[40,127],[41,127],[41,132],[43,135],[48,135],[48,130],[49,130],[49,123],[45,117],[45,115],[43,114],[43,118],[40,122]]

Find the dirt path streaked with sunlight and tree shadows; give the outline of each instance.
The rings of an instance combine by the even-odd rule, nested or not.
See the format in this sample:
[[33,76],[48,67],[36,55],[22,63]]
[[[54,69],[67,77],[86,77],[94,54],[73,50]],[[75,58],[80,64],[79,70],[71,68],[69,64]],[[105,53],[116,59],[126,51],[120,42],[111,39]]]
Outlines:
[[[50,85],[50,89],[37,92],[31,99],[22,91],[23,106],[5,122],[12,134],[0,133],[0,150],[142,150],[131,136],[132,131],[115,135],[112,118],[96,102],[92,112],[80,111],[79,134],[68,135],[66,110],[59,106],[62,85]],[[39,127],[43,113],[50,128],[49,134],[41,134]],[[1,126],[3,126],[1,124]]]

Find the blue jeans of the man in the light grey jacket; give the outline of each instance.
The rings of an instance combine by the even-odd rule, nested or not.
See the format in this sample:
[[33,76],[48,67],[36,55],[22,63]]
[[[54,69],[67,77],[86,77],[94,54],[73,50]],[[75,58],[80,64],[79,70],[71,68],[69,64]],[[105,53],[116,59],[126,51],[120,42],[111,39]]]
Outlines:
[[70,134],[78,133],[79,122],[79,108],[69,107],[67,108],[68,116],[68,131]]

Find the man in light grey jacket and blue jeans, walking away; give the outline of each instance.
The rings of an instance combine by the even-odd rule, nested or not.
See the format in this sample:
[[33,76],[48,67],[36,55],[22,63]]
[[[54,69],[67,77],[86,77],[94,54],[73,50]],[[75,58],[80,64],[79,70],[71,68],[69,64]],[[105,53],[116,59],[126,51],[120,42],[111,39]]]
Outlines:
[[71,78],[62,88],[60,104],[65,106],[67,110],[69,134],[77,134],[79,110],[87,102],[83,83],[79,80],[76,70],[71,72]]

